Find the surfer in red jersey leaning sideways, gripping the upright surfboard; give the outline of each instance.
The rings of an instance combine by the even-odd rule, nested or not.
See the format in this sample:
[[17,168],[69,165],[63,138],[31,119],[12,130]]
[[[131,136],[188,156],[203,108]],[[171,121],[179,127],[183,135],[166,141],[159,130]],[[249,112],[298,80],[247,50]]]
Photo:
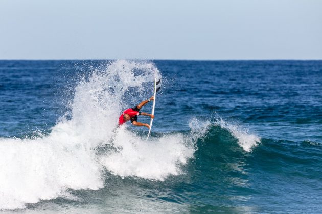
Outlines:
[[125,122],[131,120],[131,123],[136,126],[145,126],[147,128],[150,128],[149,124],[146,123],[140,123],[137,122],[137,116],[144,115],[144,116],[150,116],[152,119],[154,118],[154,115],[148,114],[145,112],[140,112],[140,109],[147,104],[148,102],[152,101],[154,99],[154,96],[150,97],[149,99],[146,99],[142,102],[140,102],[138,105],[136,105],[134,108],[130,108],[125,110],[122,115],[119,118],[119,126],[124,124]]

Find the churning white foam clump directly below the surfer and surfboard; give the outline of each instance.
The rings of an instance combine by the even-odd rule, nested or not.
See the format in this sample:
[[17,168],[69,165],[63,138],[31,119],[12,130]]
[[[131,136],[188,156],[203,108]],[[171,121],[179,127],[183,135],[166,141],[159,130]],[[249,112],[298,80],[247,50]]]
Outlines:
[[188,146],[185,140],[185,136],[176,134],[146,141],[119,129],[114,145],[121,149],[102,156],[100,161],[113,174],[122,177],[164,180],[169,175],[180,174],[180,164],[193,157],[194,147]]

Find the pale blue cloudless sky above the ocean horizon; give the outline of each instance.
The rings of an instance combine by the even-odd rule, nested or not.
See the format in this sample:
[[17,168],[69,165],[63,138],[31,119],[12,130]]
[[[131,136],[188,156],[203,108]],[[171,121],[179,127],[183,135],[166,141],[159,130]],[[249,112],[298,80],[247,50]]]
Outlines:
[[1,0],[0,59],[322,59],[322,1]]

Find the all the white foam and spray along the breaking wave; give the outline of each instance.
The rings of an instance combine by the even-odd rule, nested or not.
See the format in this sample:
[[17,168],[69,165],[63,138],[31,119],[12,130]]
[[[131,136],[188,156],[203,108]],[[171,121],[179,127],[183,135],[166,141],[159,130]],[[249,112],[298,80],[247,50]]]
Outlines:
[[229,131],[246,152],[260,142],[257,135],[221,118],[195,117],[189,132],[160,133],[148,141],[144,131],[129,129],[130,124],[117,128],[129,103],[150,96],[154,76],[162,78],[152,62],[117,60],[93,68],[75,88],[68,106],[71,117],[62,116],[38,137],[0,138],[0,209],[23,209],[58,197],[77,200],[70,190],[103,188],[105,171],[120,179],[152,181],[185,174],[182,166],[194,158],[197,140],[214,126]]

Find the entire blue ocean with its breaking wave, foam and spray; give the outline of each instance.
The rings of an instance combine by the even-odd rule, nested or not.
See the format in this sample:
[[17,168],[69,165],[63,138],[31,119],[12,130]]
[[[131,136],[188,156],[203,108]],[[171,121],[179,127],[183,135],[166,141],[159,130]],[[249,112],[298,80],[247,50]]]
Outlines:
[[0,61],[0,213],[175,212],[322,213],[322,61]]

